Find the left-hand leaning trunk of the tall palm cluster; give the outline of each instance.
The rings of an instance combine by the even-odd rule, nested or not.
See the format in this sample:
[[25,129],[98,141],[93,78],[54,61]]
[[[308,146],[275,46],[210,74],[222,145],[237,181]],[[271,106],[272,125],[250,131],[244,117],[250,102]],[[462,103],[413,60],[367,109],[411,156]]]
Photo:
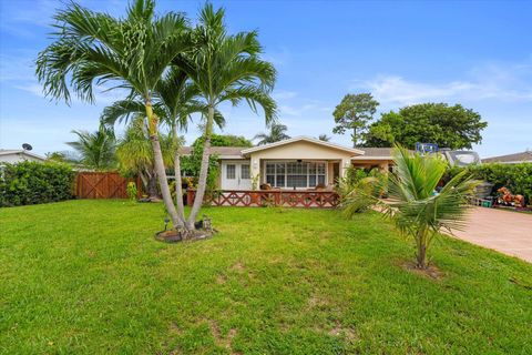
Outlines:
[[155,162],[155,172],[158,178],[158,185],[161,186],[161,194],[163,195],[164,206],[172,220],[174,227],[182,227],[183,221],[180,220],[177,211],[170,193],[168,180],[166,179],[166,170],[164,168],[163,153],[161,152],[161,143],[158,142],[157,133],[157,118],[153,113],[152,103],[146,100],[146,115],[150,124],[150,140],[152,141],[153,158]]

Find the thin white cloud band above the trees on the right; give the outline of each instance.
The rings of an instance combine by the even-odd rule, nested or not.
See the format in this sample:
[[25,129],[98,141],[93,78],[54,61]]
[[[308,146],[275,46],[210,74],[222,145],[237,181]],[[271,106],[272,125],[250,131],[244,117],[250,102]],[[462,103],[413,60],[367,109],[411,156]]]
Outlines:
[[396,105],[446,100],[532,102],[532,63],[491,63],[473,68],[464,77],[429,82],[379,74],[369,80],[357,80],[350,89],[368,90],[381,103]]

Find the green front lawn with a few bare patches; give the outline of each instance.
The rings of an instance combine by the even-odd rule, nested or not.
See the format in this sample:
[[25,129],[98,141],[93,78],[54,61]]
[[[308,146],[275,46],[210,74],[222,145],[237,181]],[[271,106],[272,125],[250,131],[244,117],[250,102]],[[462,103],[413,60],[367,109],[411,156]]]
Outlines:
[[532,265],[443,237],[443,273],[377,213],[207,209],[164,244],[161,204],[0,211],[3,354],[530,354]]

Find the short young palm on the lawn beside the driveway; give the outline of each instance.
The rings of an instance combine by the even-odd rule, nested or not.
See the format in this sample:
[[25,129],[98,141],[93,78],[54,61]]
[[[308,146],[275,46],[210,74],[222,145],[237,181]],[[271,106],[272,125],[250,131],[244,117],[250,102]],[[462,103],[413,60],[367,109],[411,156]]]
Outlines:
[[385,210],[398,230],[416,241],[417,267],[427,268],[427,251],[433,237],[442,230],[463,227],[468,196],[478,182],[462,171],[434,193],[447,169],[441,156],[411,155],[397,146],[393,160],[397,169],[388,186],[392,202],[385,204]]

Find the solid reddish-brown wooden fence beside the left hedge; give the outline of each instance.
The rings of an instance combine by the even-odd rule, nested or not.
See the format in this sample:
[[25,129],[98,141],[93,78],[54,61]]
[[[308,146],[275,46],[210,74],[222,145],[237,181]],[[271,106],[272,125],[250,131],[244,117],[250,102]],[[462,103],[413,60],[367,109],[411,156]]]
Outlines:
[[116,172],[79,172],[75,179],[78,199],[127,199],[127,183],[136,183],[139,195],[142,192],[140,178],[127,179]]

